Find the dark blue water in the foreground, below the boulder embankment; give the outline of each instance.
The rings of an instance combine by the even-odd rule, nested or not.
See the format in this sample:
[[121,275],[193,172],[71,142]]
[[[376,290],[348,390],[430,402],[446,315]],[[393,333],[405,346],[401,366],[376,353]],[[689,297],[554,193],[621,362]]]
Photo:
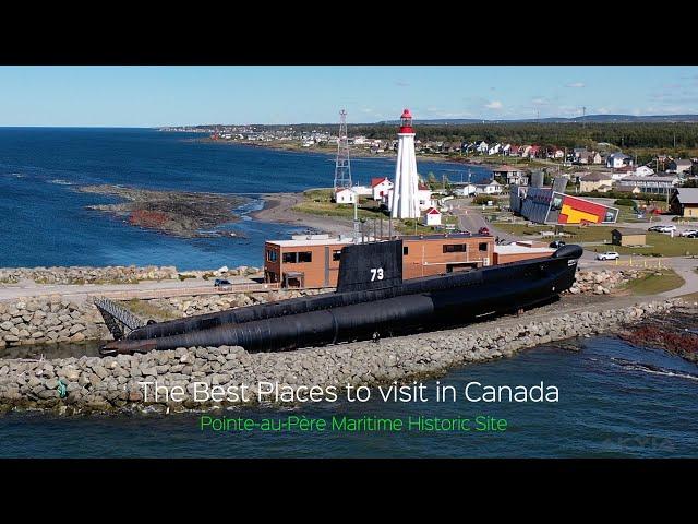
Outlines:
[[[347,402],[298,409],[226,412],[260,419],[378,416],[504,418],[504,432],[208,432],[200,414],[61,418],[0,416],[0,456],[25,457],[696,457],[696,366],[616,338],[581,341],[579,352],[541,346],[466,366],[440,382],[559,390],[558,403]],[[633,362],[628,365],[628,362]],[[425,382],[434,391],[434,381]],[[433,400],[433,396],[432,396]],[[221,415],[212,413],[212,416]]]

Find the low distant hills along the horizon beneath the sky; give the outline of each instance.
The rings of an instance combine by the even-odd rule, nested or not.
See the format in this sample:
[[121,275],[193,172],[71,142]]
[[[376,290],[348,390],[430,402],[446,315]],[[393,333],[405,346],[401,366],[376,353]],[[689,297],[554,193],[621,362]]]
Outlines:
[[[414,120],[420,126],[464,126],[468,123],[634,123],[634,122],[698,122],[698,115],[587,115],[574,118],[525,118],[518,120],[479,120],[474,118],[435,118],[430,120]],[[378,124],[396,126],[399,120],[384,120]]]

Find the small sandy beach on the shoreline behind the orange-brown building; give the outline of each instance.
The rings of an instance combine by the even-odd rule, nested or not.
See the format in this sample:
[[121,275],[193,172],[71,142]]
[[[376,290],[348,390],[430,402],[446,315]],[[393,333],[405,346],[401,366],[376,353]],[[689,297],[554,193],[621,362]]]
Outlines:
[[264,207],[250,214],[256,221],[291,224],[330,235],[350,235],[353,233],[353,223],[348,218],[311,215],[292,211],[291,207],[303,201],[302,193],[269,193],[261,196],[264,200]]

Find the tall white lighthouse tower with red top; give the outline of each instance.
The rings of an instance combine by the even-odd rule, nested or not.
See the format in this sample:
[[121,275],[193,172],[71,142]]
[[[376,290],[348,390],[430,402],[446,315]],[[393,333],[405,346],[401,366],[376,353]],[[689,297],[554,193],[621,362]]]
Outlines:
[[417,158],[414,156],[414,130],[412,114],[402,111],[397,133],[397,164],[390,216],[393,218],[419,218]]

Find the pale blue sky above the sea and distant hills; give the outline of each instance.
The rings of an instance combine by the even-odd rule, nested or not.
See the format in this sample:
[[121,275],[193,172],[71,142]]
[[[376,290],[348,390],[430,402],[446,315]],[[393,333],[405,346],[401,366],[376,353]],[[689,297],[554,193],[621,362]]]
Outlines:
[[0,126],[698,114],[698,67],[0,67]]

